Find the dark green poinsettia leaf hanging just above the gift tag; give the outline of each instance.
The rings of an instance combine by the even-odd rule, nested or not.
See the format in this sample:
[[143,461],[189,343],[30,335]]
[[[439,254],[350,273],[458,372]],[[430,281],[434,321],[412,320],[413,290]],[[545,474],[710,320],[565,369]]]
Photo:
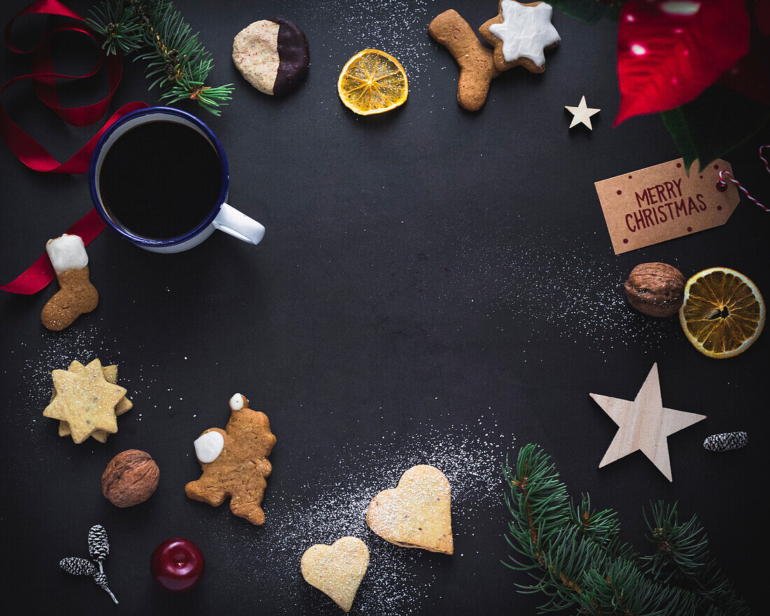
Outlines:
[[661,113],[663,122],[690,169],[701,169],[755,136],[770,119],[770,107],[735,90],[712,85],[694,101]]

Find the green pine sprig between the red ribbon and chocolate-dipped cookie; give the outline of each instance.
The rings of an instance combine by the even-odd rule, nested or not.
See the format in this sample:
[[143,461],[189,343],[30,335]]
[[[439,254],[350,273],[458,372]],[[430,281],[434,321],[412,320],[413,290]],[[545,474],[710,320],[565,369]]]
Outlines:
[[102,0],[86,22],[108,54],[140,52],[135,60],[147,62],[149,89],[159,86],[166,104],[192,99],[220,115],[232,98],[233,84],[206,85],[213,59],[172,0]]

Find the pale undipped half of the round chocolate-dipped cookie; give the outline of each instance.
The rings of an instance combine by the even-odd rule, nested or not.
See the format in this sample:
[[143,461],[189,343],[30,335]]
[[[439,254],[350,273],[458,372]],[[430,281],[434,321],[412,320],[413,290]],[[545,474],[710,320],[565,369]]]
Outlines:
[[259,92],[273,94],[280,58],[280,24],[262,19],[243,28],[233,41],[233,62],[244,79]]

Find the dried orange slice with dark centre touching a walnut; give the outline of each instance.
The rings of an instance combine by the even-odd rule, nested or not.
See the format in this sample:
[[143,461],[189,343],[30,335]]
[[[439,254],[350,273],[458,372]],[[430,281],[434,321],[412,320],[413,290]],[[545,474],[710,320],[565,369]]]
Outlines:
[[704,355],[725,359],[752,346],[765,325],[765,301],[756,285],[727,267],[704,269],[685,285],[679,322]]

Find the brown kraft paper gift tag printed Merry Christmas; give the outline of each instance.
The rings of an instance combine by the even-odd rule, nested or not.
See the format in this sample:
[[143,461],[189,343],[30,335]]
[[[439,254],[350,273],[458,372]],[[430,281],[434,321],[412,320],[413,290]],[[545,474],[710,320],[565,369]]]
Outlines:
[[724,225],[740,197],[731,182],[717,189],[720,171],[730,163],[698,172],[696,160],[688,176],[678,159],[595,182],[615,254]]

